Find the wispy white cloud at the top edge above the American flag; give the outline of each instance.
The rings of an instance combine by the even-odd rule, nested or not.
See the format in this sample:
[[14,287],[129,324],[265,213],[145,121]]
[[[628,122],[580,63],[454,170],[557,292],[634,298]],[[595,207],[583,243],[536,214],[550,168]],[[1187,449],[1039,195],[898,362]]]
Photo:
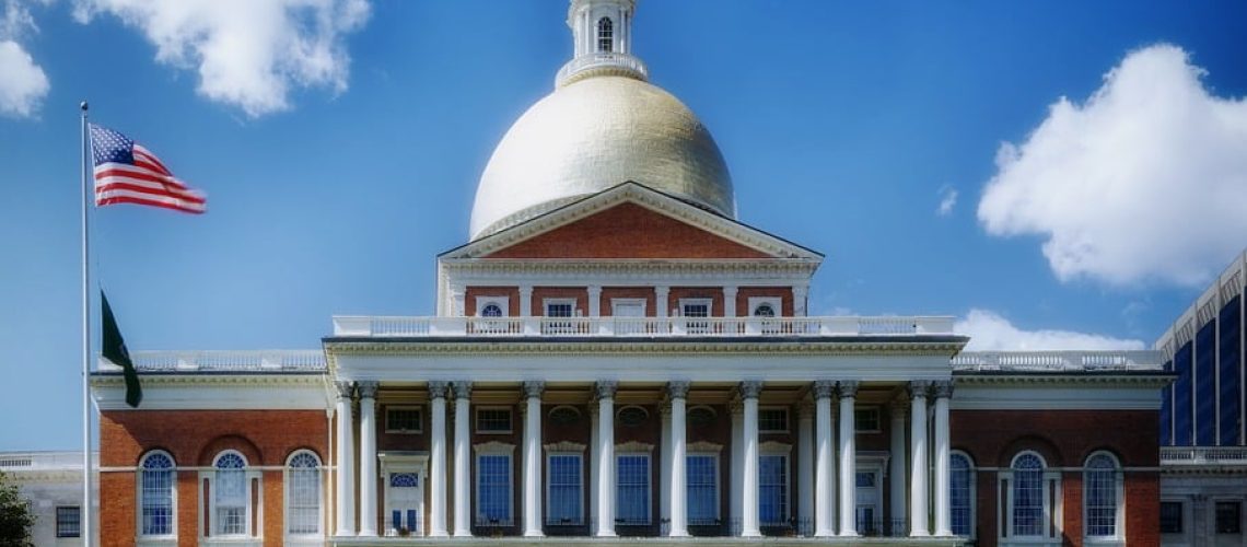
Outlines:
[[76,17],[112,14],[156,45],[156,60],[198,72],[198,92],[248,116],[289,108],[292,87],[347,90],[345,36],[368,0],[77,0]]

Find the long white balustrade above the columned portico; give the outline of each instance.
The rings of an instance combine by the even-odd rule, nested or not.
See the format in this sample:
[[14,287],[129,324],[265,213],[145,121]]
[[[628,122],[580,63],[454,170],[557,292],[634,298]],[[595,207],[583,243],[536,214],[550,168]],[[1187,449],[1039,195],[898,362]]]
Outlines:
[[826,318],[451,318],[334,316],[335,336],[914,336],[953,334],[944,316]]

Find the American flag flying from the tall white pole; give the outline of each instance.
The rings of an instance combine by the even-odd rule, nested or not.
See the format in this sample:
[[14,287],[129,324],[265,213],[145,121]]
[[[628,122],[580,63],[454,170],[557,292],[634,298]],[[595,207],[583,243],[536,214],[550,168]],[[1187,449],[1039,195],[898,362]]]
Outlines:
[[95,204],[135,203],[183,213],[207,211],[203,192],[186,186],[156,155],[125,135],[90,125]]

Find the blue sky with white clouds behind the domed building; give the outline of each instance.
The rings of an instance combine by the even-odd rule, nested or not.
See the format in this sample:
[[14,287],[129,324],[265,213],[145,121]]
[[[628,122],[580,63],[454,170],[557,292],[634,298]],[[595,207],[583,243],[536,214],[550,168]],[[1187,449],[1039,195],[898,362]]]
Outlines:
[[[92,211],[131,349],[304,349],[334,314],[431,314],[494,145],[570,59],[562,0],[283,4],[0,0],[0,415],[25,416],[0,450],[80,442],[80,100],[208,193],[202,217]],[[1247,4],[636,17],[741,219],[827,254],[813,314],[1150,344],[1247,247]]]

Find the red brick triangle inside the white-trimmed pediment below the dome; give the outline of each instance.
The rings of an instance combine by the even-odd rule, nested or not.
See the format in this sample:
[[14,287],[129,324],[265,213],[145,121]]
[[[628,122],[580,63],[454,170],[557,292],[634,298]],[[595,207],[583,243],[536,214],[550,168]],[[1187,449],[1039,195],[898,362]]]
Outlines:
[[486,258],[768,258],[701,228],[624,203]]

